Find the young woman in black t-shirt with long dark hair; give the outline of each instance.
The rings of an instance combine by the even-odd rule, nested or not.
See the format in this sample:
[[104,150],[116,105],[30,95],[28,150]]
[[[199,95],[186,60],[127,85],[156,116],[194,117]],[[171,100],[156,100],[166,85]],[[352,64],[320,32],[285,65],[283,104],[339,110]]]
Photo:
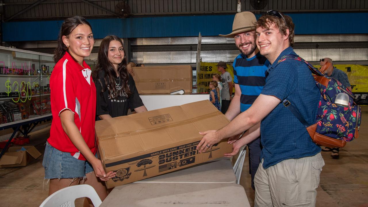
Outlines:
[[123,42],[115,35],[106,36],[92,72],[97,91],[96,120],[125,116],[128,108],[137,113],[147,111],[126,65]]

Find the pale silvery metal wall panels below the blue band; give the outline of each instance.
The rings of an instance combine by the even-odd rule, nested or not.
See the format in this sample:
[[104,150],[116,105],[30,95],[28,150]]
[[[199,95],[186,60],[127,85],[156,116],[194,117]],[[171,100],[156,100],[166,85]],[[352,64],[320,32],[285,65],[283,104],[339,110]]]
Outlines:
[[[367,34],[296,35],[294,41],[295,51],[308,62],[330,57],[336,62],[367,64]],[[195,63],[197,43],[198,38],[135,38],[130,41],[131,60],[144,64]],[[201,58],[204,62],[231,63],[239,53],[233,38],[202,37]]]

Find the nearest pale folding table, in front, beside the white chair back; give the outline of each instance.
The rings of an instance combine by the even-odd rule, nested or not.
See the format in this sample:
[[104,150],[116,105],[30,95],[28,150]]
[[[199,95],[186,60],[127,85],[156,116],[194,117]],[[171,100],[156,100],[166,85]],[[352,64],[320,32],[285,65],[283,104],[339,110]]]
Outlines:
[[234,183],[129,183],[115,187],[100,207],[250,207]]

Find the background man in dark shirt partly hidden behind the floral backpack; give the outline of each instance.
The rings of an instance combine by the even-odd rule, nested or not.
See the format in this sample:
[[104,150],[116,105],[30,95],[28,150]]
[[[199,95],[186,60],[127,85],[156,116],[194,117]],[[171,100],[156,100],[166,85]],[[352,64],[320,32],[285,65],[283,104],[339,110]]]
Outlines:
[[[332,59],[325,57],[321,60],[319,60],[319,65],[323,66],[326,62],[330,62],[331,65],[328,67],[325,71],[321,71],[322,73],[325,73],[327,76],[335,78],[336,80],[340,81],[348,90],[352,90],[349,78],[347,77],[346,73],[344,71],[337,69],[333,66]],[[331,152],[331,157],[333,159],[339,159],[340,158],[340,148],[330,148],[330,147],[324,147],[322,148],[323,152]]]

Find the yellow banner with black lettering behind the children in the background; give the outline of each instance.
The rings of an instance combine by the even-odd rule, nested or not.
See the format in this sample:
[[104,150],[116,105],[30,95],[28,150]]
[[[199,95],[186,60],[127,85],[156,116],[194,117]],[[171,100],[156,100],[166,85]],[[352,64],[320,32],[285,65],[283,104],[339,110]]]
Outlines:
[[[217,63],[201,62],[201,68],[197,70],[197,93],[208,93],[210,91],[209,82],[212,81],[213,74],[217,73],[221,75],[221,73],[217,70],[216,65]],[[230,64],[226,64],[226,66],[226,71],[230,73],[231,77],[234,80],[233,66]],[[235,89],[233,89],[233,92],[234,91]]]

